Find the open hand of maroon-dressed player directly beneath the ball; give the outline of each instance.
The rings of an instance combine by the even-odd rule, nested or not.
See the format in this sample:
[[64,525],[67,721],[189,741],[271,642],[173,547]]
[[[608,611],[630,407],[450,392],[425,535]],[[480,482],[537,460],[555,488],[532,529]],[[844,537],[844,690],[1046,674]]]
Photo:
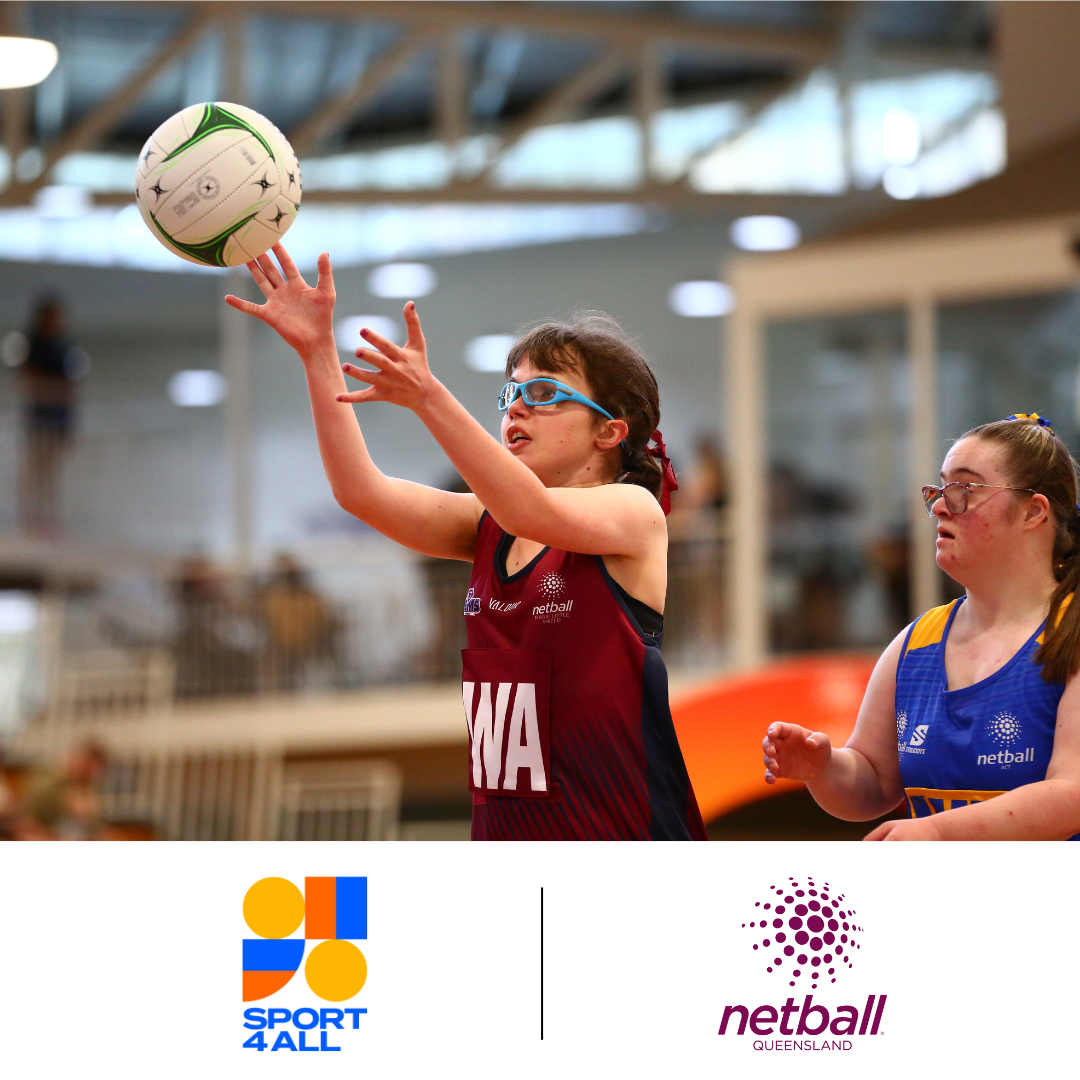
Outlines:
[[247,264],[267,302],[252,303],[237,296],[227,296],[225,302],[272,326],[301,356],[325,343],[327,338],[333,347],[336,294],[330,257],[319,256],[319,284],[312,288],[281,244],[274,244],[271,251],[278,256],[281,270],[269,254]]

